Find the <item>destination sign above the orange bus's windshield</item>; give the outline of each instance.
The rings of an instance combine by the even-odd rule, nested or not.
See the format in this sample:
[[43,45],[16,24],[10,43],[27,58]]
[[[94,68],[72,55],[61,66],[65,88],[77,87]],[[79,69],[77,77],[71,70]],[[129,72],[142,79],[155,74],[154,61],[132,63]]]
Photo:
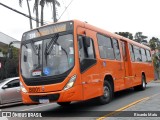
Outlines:
[[22,40],[30,40],[54,33],[65,32],[73,30],[73,22],[64,22],[53,25],[44,26],[41,28],[34,29],[32,31],[23,34]]

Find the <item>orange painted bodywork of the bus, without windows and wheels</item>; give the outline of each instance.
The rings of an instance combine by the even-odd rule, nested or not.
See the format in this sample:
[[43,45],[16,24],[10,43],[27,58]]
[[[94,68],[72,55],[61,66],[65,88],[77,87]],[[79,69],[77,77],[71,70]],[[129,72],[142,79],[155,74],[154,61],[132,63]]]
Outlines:
[[[103,82],[106,76],[112,77],[114,83],[114,92],[140,85],[143,73],[145,74],[147,83],[153,80],[153,63],[132,62],[129,52],[129,44],[136,45],[147,50],[150,50],[149,47],[78,20],[73,20],[73,22],[75,48],[75,66],[73,70],[69,73],[63,82],[44,86],[27,86],[23,81],[22,75],[20,74],[20,81],[28,91],[27,93],[21,92],[22,99],[25,104],[36,103],[31,100],[30,96],[47,96],[50,94],[59,94],[60,96],[56,102],[80,101],[101,96],[103,94]],[[100,58],[97,33],[118,40],[121,60],[109,60]],[[78,35],[86,35],[93,39],[97,60],[95,65],[83,73],[80,71],[79,64]],[[126,60],[122,55],[122,44],[125,45]],[[68,90],[63,90],[69,79],[75,74],[77,75],[77,78],[74,86]],[[34,87],[37,87],[39,91],[35,93],[30,92],[30,88]],[[43,87],[45,88],[44,90]]]

